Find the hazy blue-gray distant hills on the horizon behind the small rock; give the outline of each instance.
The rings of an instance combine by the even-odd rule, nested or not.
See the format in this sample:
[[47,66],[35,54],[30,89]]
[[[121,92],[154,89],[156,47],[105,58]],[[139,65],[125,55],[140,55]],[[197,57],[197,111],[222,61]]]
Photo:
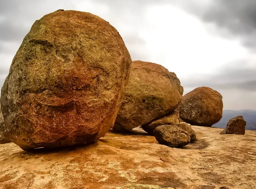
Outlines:
[[223,110],[221,120],[212,127],[225,128],[227,122],[236,116],[243,116],[246,121],[246,130],[256,130],[256,110]]

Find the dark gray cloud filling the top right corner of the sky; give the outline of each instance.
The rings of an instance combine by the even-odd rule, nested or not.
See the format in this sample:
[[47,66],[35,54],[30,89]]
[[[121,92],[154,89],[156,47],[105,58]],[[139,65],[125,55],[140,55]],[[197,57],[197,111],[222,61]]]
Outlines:
[[256,1],[254,0],[212,0],[203,9],[192,1],[186,7],[206,23],[218,27],[224,37],[238,37],[241,43],[256,50]]

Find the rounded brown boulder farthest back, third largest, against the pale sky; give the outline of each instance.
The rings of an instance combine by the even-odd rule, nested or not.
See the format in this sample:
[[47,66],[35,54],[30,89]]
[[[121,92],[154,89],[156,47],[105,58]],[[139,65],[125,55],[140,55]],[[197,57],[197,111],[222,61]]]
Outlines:
[[209,87],[198,87],[185,96],[178,110],[186,123],[212,127],[222,117],[222,96]]

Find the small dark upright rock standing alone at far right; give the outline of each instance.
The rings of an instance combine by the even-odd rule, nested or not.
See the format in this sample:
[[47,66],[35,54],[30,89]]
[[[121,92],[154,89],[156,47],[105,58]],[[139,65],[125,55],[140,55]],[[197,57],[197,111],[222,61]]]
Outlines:
[[220,134],[244,135],[246,121],[243,116],[236,116],[227,122],[227,127]]

